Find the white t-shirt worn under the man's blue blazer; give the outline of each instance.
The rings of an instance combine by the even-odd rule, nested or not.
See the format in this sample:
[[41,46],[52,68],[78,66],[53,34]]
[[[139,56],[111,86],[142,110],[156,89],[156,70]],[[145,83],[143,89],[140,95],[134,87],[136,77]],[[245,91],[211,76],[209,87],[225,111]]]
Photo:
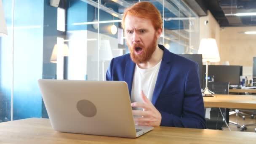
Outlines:
[[[162,60],[161,60],[162,61]],[[161,61],[154,67],[149,69],[141,69],[136,64],[133,74],[133,85],[131,89],[131,102],[143,102],[141,98],[141,90],[147,96],[149,101],[152,101],[153,92],[157,75],[160,69]],[[141,110],[141,109],[137,109]]]

